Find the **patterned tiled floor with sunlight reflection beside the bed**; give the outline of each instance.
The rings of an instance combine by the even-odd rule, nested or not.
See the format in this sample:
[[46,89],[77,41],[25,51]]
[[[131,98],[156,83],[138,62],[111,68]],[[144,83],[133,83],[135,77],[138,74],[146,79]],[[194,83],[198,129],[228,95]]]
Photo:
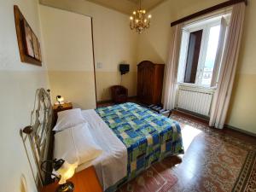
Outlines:
[[[166,158],[160,163],[161,167],[165,167],[161,171],[165,172],[163,177],[166,177],[168,172],[177,177],[177,182],[168,189],[160,188],[158,191],[234,190],[247,157],[251,155],[251,161],[255,161],[256,138],[229,129],[212,129],[206,123],[177,113],[172,114],[171,118],[176,119],[182,127],[185,154]],[[159,174],[162,174],[161,172]],[[254,184],[248,185],[247,189],[255,191]],[[130,190],[125,188],[126,186],[120,191],[136,192],[131,186]],[[143,187],[137,191],[149,192],[148,189],[151,191],[147,183],[143,183]]]

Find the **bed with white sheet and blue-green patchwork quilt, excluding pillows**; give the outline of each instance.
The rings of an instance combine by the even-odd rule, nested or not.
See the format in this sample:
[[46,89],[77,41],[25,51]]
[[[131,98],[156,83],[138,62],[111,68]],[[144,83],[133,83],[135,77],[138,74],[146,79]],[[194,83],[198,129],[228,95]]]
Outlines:
[[95,166],[105,191],[114,191],[166,156],[183,154],[178,123],[148,108],[127,102],[84,110],[83,115],[106,153],[77,170]]

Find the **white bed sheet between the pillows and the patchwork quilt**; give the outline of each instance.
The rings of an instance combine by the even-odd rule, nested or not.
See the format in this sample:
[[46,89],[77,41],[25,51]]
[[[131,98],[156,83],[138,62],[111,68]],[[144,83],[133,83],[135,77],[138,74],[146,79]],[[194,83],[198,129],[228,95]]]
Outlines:
[[127,148],[116,137],[95,112],[95,110],[82,111],[84,119],[89,123],[90,133],[103,153],[89,163],[79,165],[76,172],[84,170],[88,166],[95,166],[97,177],[106,190],[127,175]]

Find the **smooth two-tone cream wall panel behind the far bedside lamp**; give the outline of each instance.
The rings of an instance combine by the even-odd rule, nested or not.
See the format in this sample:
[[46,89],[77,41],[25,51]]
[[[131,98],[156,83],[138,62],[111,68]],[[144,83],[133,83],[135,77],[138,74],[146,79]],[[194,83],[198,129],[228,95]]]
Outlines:
[[96,108],[90,17],[40,5],[45,61],[53,100]]

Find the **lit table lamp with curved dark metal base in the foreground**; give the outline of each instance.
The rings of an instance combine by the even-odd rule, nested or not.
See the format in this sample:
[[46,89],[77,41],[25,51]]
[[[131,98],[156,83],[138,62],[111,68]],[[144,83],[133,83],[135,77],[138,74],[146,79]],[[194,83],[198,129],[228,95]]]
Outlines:
[[45,162],[52,163],[54,172],[51,172],[50,174],[54,176],[58,180],[58,183],[60,184],[55,191],[56,192],[73,192],[74,185],[72,182],[67,181],[67,179],[73,177],[75,169],[78,167],[78,162],[74,164],[69,164],[65,160],[45,160],[41,165],[41,169],[44,172],[47,172],[46,170],[44,170]]

